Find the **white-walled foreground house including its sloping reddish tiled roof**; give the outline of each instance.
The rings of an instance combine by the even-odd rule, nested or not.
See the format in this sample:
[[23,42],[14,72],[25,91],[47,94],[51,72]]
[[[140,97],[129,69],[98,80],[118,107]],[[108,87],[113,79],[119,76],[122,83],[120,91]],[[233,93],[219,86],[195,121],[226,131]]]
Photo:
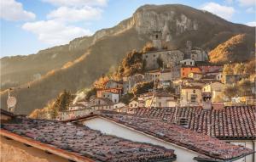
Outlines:
[[[171,114],[171,112],[167,113]],[[160,114],[151,112],[150,115],[157,116]],[[71,121],[101,131],[102,134],[173,149],[177,155],[177,162],[238,162],[241,159],[251,159],[253,154],[253,150],[250,148],[220,141],[217,138],[191,131],[184,126],[177,126],[165,120],[150,119],[146,115],[142,118],[105,111],[94,117],[84,117]]]

